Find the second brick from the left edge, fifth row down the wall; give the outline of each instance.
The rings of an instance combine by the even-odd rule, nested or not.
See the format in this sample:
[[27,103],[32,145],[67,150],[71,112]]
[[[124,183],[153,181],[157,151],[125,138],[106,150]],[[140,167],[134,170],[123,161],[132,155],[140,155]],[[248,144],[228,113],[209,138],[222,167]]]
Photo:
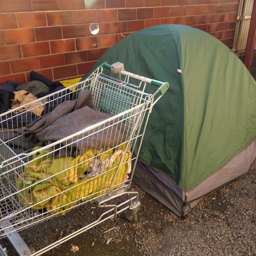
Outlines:
[[10,61],[12,73],[39,69],[38,57],[22,58]]

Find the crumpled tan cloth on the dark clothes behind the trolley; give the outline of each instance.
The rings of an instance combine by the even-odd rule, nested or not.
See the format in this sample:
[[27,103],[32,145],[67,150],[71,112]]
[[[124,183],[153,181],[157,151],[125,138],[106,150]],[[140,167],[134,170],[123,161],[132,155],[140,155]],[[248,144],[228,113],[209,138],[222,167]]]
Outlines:
[[[37,97],[29,93],[28,91],[21,90],[21,91],[14,91],[13,93],[14,93],[14,99],[12,99],[11,109],[18,108],[19,106],[28,104],[37,99]],[[32,113],[36,114],[37,116],[41,116],[44,110],[44,106],[40,101],[38,101],[38,102],[32,103],[31,105],[27,105],[26,108],[19,108],[17,111],[25,112],[30,110]]]

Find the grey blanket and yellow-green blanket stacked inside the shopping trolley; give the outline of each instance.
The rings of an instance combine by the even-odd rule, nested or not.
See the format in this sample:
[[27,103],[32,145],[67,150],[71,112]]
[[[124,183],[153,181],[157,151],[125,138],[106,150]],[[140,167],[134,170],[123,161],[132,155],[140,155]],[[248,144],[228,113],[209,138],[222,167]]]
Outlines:
[[[78,135],[67,139],[75,133]],[[112,189],[123,184],[131,159],[127,137],[118,118],[94,110],[91,91],[81,91],[77,99],[62,102],[23,130],[22,138],[35,147],[32,160],[17,180],[18,189],[23,189],[20,203],[65,214],[79,199],[106,193],[112,182]],[[23,140],[16,142],[18,147],[24,144]],[[50,147],[41,150],[43,146]]]

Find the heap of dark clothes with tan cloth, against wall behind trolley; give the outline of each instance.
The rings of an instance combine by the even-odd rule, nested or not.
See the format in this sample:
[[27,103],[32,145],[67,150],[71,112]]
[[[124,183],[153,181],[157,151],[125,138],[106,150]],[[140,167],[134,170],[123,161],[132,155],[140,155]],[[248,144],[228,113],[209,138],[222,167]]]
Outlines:
[[[28,124],[48,114],[62,102],[73,99],[73,92],[60,82],[53,82],[35,71],[30,72],[30,79],[29,83],[18,84],[9,80],[0,85],[0,113],[15,108],[0,117],[0,139],[16,154],[33,148],[31,143],[24,141],[22,137]],[[21,107],[38,97],[44,99],[27,105],[26,109]]]

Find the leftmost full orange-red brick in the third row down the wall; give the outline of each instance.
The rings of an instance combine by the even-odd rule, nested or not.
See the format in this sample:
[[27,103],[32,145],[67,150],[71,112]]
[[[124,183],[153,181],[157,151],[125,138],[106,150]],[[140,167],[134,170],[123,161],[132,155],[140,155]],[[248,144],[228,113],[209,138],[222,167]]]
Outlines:
[[7,44],[20,44],[34,42],[34,29],[10,29],[4,31],[5,41]]

